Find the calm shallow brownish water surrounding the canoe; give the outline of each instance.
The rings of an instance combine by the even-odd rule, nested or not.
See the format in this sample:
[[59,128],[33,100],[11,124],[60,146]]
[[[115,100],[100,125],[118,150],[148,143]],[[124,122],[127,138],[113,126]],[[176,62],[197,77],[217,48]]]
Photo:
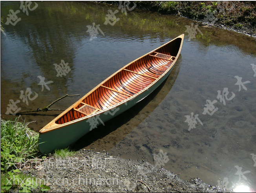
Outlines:
[[[186,180],[199,177],[228,190],[232,184],[244,184],[256,191],[252,158],[256,154],[256,78],[251,66],[256,64],[255,38],[199,25],[204,36],[197,33],[189,41],[185,31],[192,21],[185,18],[136,9],[125,16],[118,7],[87,2],[37,4],[26,15],[20,2],[1,2],[4,23],[10,9],[20,10],[17,16],[21,18],[15,26],[3,24],[5,35],[1,33],[1,118],[16,117],[5,115],[11,99],[16,109],[27,111],[48,106],[66,94],[83,96],[132,60],[184,33],[181,55],[167,80],[140,104],[82,137],[73,148],[146,158],[181,173]],[[104,25],[109,9],[119,10],[113,26]],[[93,23],[101,31],[90,40],[88,29]],[[53,64],[62,60],[70,71],[60,77]],[[40,85],[38,76],[45,78],[49,89]],[[241,82],[250,81],[244,84],[246,89],[239,91],[235,76]],[[28,105],[20,98],[21,91],[27,94]],[[66,109],[78,99],[64,98],[52,108]],[[212,115],[203,114],[207,100],[216,100],[212,110],[218,110],[209,110]],[[22,118],[35,121],[30,127],[39,131],[59,113],[27,113]],[[198,119],[188,131],[191,115]],[[165,156],[164,162],[159,162],[159,156]]]

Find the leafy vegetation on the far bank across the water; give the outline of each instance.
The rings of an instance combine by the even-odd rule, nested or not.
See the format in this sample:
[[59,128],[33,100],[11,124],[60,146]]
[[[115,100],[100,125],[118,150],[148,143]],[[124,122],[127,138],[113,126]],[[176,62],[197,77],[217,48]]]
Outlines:
[[[116,4],[119,2],[102,2]],[[214,25],[233,29],[250,29],[256,34],[255,1],[134,1],[136,9],[155,11],[162,14],[183,16],[202,21],[211,14],[216,19]]]

